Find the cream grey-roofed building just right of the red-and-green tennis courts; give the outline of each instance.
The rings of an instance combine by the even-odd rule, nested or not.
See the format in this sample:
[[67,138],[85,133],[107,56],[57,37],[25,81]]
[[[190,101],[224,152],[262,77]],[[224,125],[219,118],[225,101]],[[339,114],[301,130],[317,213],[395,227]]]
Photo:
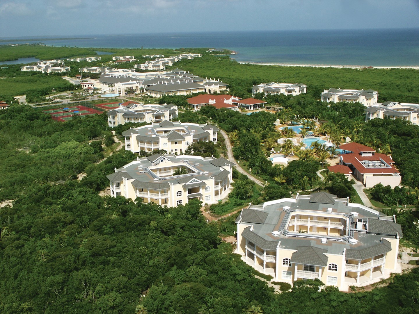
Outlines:
[[161,122],[171,121],[178,117],[178,107],[170,104],[164,105],[143,105],[128,101],[108,112],[108,125],[119,126],[127,122]]

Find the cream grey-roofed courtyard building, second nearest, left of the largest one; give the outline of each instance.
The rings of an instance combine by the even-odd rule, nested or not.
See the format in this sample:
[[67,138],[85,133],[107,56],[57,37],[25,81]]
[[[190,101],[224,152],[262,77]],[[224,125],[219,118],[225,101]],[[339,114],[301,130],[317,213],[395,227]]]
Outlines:
[[115,168],[107,178],[112,197],[139,197],[144,203],[170,207],[191,199],[213,204],[230,192],[233,165],[222,157],[154,154]]

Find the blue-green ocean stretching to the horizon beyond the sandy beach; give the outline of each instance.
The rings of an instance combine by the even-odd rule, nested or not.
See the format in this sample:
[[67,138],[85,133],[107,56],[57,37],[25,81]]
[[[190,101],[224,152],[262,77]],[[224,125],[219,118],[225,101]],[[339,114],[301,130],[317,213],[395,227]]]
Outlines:
[[[44,43],[48,46],[95,48],[225,48],[238,51],[239,54],[232,58],[239,62],[372,67],[419,65],[419,29],[225,31],[72,37],[88,38]],[[37,41],[34,39],[33,42]]]

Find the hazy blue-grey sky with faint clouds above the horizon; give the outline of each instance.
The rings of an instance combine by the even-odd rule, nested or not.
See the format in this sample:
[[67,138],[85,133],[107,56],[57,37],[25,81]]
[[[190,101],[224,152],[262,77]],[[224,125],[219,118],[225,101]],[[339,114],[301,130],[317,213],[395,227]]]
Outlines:
[[419,0],[0,0],[0,38],[419,28]]

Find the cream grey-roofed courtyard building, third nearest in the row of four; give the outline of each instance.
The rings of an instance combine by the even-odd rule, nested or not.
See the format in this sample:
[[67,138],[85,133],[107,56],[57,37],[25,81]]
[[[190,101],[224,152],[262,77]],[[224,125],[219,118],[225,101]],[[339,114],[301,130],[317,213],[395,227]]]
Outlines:
[[211,124],[170,122],[140,126],[124,131],[125,149],[137,153],[164,149],[173,154],[184,154],[191,143],[203,141],[217,143],[218,128]]

